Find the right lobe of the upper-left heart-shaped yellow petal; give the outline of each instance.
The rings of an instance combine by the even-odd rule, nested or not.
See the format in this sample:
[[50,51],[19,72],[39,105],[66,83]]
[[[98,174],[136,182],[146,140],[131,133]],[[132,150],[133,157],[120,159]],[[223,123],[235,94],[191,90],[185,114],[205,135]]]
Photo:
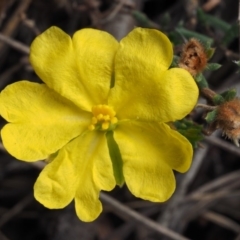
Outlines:
[[81,94],[93,105],[107,103],[119,43],[107,32],[83,29],[73,36]]

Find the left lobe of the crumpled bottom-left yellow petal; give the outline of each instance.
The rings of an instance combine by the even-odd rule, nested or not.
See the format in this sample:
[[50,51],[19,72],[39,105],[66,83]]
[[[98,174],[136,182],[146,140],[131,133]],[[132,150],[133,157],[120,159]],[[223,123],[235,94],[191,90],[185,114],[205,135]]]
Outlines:
[[42,170],[34,185],[34,197],[50,209],[66,207],[75,196],[78,182],[77,158],[69,157],[70,152],[66,151],[68,145]]

